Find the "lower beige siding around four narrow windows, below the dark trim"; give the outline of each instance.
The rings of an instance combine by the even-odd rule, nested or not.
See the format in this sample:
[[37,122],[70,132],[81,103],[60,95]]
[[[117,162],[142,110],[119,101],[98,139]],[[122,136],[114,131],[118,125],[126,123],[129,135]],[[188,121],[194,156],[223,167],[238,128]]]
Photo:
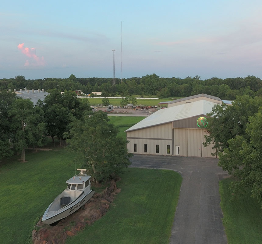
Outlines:
[[[134,154],[155,154],[172,155],[172,140],[151,140],[151,139],[127,139],[128,152]],[[136,152],[134,152],[134,143],[136,143]],[[147,144],[147,152],[144,152],[144,144]],[[156,145],[159,145],[159,153],[156,153]],[[167,153],[167,145],[170,145],[170,154]]]

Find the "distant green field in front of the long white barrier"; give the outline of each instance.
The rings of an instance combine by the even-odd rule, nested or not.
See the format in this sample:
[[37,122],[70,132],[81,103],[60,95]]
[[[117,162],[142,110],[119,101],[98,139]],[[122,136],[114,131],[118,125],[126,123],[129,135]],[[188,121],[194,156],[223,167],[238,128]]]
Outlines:
[[[137,105],[144,105],[144,106],[157,106],[159,102],[166,102],[172,101],[172,99],[178,99],[180,97],[168,97],[163,99],[137,99]],[[91,106],[97,106],[102,104],[103,98],[81,98],[81,99],[88,99]],[[110,105],[113,106],[120,106],[121,98],[108,98]]]

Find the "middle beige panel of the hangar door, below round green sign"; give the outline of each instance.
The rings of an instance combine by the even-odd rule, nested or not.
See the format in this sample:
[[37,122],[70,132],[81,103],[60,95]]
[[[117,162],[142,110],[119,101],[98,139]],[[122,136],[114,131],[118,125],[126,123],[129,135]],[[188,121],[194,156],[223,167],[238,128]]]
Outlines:
[[188,129],[187,155],[201,157],[202,152],[202,129]]

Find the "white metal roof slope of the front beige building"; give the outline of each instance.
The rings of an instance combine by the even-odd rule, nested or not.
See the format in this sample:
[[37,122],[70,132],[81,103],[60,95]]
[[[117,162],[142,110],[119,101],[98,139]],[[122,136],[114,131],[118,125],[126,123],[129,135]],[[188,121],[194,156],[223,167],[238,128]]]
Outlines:
[[137,124],[127,129],[126,132],[166,124],[176,120],[191,118],[197,115],[206,115],[207,113],[211,112],[214,105],[217,105],[217,103],[199,100],[192,103],[164,108],[156,111],[147,118],[144,118]]

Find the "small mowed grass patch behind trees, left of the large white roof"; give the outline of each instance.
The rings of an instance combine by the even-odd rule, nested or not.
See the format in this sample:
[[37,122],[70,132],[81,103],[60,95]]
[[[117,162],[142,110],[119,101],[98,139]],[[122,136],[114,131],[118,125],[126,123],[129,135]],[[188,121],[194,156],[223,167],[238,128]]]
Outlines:
[[119,129],[118,136],[126,138],[125,130],[129,129],[131,126],[140,122],[146,117],[142,116],[108,116],[110,123],[114,124]]

